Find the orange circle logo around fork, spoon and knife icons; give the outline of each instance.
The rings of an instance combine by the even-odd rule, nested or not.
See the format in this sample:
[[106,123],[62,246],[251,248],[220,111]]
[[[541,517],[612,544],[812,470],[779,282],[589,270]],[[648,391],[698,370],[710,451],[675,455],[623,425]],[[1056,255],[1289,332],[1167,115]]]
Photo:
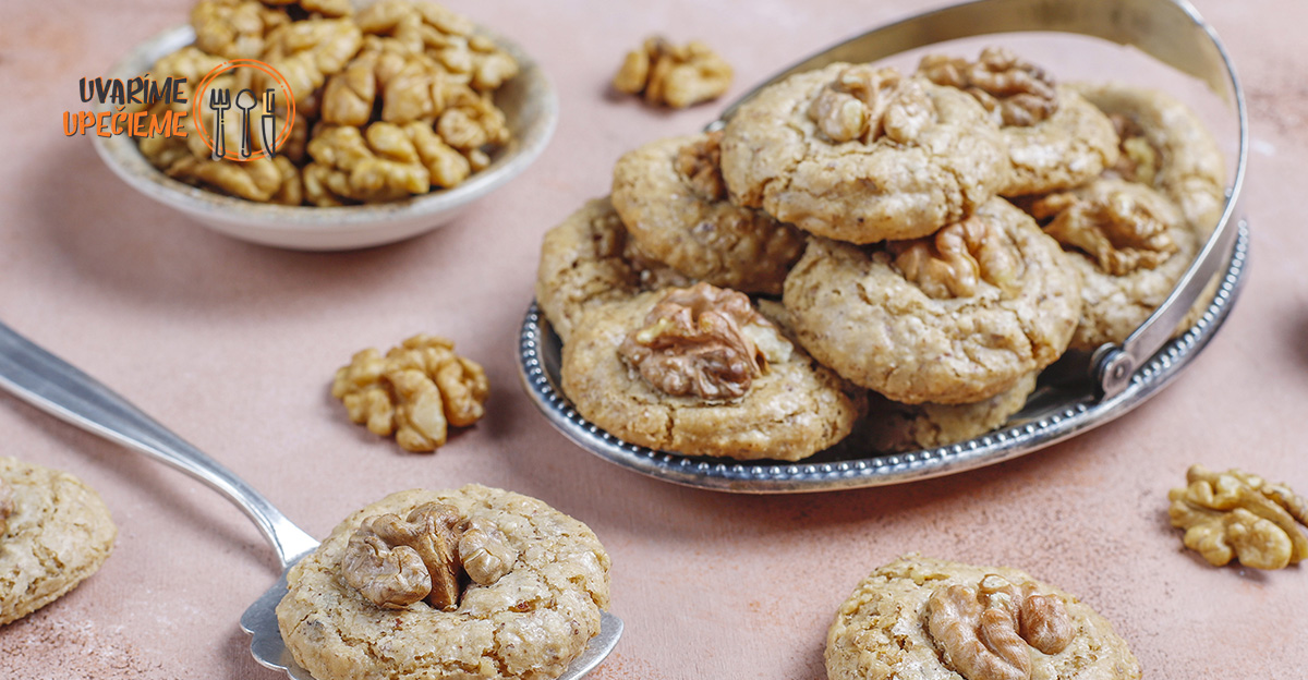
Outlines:
[[[281,88],[283,101],[286,102],[286,118],[281,129],[276,129],[277,119],[273,116],[273,111],[277,109],[277,90],[273,88],[267,88],[262,95],[249,88],[235,94],[232,93],[230,88],[209,88],[213,78],[237,68],[254,68],[277,81],[277,85]],[[250,114],[260,98],[263,99],[264,112],[259,115],[259,120],[251,120],[252,116]],[[205,103],[213,110],[217,135],[212,135],[208,131],[204,116],[200,115],[203,112],[201,107]],[[213,158],[237,162],[258,158],[271,160],[277,153],[277,149],[290,139],[290,128],[296,124],[296,95],[290,92],[290,84],[286,82],[286,78],[264,61],[259,61],[258,59],[233,59],[218,64],[200,80],[200,85],[195,90],[195,97],[191,99],[191,115],[195,116],[195,128],[200,133],[200,140],[213,152]],[[241,143],[238,148],[228,149],[226,128],[233,126],[239,129]],[[254,145],[255,135],[259,139],[258,153]]]

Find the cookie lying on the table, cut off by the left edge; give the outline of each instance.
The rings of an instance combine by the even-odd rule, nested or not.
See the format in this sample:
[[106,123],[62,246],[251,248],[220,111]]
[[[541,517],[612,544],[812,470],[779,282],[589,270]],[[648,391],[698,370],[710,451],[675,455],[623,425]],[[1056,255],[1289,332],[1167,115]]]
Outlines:
[[59,599],[94,574],[118,528],[77,477],[0,458],[0,625]]

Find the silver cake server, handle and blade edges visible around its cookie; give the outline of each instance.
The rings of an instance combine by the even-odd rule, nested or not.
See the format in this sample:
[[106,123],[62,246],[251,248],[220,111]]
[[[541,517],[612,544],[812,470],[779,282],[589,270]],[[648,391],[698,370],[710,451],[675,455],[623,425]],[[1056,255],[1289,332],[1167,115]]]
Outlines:
[[[241,616],[241,628],[254,636],[250,654],[260,664],[286,671],[296,680],[314,680],[283,643],[275,612],[286,594],[286,571],[318,547],[313,536],[220,463],[4,323],[0,323],[0,387],[60,420],[186,472],[245,511],[272,544],[281,564],[281,578]],[[559,680],[576,680],[594,670],[613,651],[621,634],[621,619],[603,612],[599,634]]]

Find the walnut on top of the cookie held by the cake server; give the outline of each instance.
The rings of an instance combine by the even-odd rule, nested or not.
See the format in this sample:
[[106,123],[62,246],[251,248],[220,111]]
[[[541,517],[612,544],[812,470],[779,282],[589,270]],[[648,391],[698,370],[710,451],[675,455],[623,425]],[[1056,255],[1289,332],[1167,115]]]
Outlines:
[[463,575],[489,586],[513,570],[518,551],[492,523],[466,519],[446,503],[424,503],[408,517],[370,517],[349,537],[341,557],[347,585],[388,609],[426,600],[459,608]]

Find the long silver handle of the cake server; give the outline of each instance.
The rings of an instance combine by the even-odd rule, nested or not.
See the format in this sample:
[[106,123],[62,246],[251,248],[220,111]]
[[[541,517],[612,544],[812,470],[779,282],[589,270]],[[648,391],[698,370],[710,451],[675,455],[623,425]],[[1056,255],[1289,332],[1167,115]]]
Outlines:
[[222,464],[4,323],[0,323],[0,387],[60,420],[167,463],[226,496],[277,551],[283,569],[318,545]]

